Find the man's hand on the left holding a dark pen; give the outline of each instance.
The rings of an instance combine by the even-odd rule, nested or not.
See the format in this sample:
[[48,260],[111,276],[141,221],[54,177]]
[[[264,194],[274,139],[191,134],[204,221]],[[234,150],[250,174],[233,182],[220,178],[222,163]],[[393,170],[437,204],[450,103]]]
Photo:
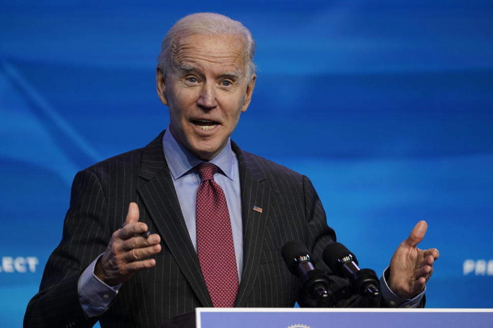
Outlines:
[[106,251],[94,268],[94,274],[104,283],[115,286],[127,281],[139,270],[154,267],[155,259],[142,259],[161,251],[161,238],[158,234],[147,238],[135,236],[146,231],[147,225],[139,222],[139,207],[131,202],[124,226],[113,232]]

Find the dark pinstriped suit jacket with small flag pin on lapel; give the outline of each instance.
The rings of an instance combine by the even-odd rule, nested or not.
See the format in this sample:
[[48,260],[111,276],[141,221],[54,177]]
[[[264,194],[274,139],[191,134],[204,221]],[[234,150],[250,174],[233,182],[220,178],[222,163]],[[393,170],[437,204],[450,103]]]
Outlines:
[[[30,301],[28,327],[156,327],[165,319],[212,306],[197,254],[186,230],[172,177],[162,151],[162,133],[144,148],[109,158],[79,172],[72,185],[63,238],[46,264],[40,292]],[[313,305],[300,292],[280,249],[290,240],[306,243],[318,263],[335,239],[310,180],[274,162],[240,150],[243,273],[235,306]],[[111,234],[125,220],[128,203],[137,202],[140,221],[162,237],[154,268],[125,282],[110,308],[87,319],[77,281],[104,252]],[[253,207],[263,209],[262,213]],[[344,284],[334,277],[334,283]],[[355,298],[342,306],[355,304]]]

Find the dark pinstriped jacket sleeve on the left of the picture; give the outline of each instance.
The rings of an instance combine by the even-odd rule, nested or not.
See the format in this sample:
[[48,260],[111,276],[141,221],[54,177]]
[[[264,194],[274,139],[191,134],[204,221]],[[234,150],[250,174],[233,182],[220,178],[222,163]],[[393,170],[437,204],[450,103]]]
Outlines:
[[24,327],[92,327],[78,294],[81,273],[104,252],[112,232],[106,231],[107,204],[98,177],[85,170],[75,175],[62,241],[46,263],[40,291],[29,302]]

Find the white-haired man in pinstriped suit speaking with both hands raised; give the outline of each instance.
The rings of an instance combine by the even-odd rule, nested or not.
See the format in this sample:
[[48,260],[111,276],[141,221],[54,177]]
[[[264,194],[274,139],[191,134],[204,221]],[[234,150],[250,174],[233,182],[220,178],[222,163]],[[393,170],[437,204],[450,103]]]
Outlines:
[[[75,176],[26,327],[155,327],[198,306],[314,306],[280,257],[300,240],[328,270],[321,252],[335,234],[310,180],[230,140],[252,98],[254,50],[250,31],[219,14],[169,30],[157,68],[169,127]],[[383,305],[423,304],[438,258],[416,248],[425,232],[419,222],[397,248]]]

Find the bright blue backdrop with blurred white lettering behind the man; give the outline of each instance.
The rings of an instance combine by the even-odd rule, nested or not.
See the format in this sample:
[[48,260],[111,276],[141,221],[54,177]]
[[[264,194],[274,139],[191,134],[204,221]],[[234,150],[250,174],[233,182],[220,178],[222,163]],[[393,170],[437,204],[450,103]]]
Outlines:
[[435,308],[492,308],[493,3],[0,2],[0,322],[21,326],[74,174],[167,127],[161,39],[214,11],[259,68],[233,139],[308,175],[328,223],[381,272],[415,222],[441,252]]

